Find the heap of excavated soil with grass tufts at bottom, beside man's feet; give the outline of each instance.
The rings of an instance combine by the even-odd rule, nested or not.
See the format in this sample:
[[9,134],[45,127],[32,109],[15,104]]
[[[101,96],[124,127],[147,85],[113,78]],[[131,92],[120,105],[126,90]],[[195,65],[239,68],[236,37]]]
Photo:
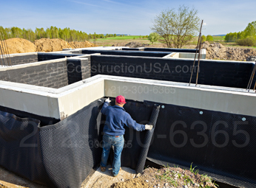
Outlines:
[[176,167],[164,167],[155,169],[152,167],[144,170],[138,178],[127,179],[125,181],[112,184],[110,188],[132,188],[132,187],[212,187],[217,188],[212,179],[206,175],[192,173],[189,170],[182,170]]

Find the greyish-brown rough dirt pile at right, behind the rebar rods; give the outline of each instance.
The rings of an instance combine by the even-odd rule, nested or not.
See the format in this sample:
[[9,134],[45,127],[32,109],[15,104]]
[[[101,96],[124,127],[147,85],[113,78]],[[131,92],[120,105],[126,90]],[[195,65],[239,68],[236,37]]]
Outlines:
[[256,55],[255,49],[240,49],[225,47],[221,43],[203,42],[202,48],[206,49],[206,59],[209,60],[246,60]]

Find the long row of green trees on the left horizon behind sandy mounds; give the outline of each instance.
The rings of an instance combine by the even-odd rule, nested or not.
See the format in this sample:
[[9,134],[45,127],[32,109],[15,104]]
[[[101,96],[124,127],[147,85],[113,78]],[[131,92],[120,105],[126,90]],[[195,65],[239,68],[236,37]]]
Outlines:
[[61,38],[64,41],[88,41],[90,39],[96,38],[107,38],[107,37],[116,37],[116,34],[87,34],[86,32],[81,32],[75,29],[70,29],[70,27],[66,27],[64,29],[57,27],[50,27],[44,29],[43,27],[35,29],[21,29],[18,27],[1,27],[0,26],[0,34],[5,38],[24,38],[28,41],[34,42],[40,38]]

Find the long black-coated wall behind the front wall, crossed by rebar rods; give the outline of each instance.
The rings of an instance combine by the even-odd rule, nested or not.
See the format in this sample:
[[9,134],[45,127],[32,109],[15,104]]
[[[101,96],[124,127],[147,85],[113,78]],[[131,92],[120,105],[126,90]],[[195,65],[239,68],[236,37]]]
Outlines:
[[[189,83],[193,59],[142,58],[92,55],[92,76],[107,74]],[[197,64],[192,76],[195,83]],[[246,88],[254,63],[201,60],[198,84]]]

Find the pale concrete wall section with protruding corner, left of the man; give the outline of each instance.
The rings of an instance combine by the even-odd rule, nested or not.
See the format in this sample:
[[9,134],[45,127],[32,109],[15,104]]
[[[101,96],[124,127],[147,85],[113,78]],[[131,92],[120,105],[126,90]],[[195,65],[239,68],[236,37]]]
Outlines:
[[63,88],[44,88],[0,80],[0,106],[64,119],[104,97],[104,79],[91,77]]

